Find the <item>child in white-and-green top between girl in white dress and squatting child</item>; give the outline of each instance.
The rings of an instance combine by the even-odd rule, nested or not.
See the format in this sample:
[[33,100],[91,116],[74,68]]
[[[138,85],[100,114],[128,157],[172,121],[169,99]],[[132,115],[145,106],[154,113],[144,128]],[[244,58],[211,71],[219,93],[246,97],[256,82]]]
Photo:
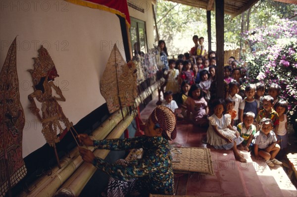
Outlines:
[[237,130],[239,131],[240,136],[245,139],[244,142],[239,145],[239,150],[250,150],[251,141],[256,133],[256,126],[252,124],[254,119],[255,114],[249,111],[244,113],[244,122],[237,125]]

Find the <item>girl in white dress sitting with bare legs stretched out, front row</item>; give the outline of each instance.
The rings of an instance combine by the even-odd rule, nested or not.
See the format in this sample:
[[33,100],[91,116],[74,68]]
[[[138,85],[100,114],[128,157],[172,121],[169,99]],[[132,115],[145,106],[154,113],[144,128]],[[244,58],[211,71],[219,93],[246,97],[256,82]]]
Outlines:
[[244,139],[239,136],[239,132],[231,127],[230,114],[223,114],[225,109],[225,102],[222,99],[215,99],[212,106],[214,107],[214,114],[208,117],[209,127],[207,130],[207,143],[216,149],[232,148],[235,159],[240,162],[247,162],[244,156],[238,152],[237,146],[240,145]]

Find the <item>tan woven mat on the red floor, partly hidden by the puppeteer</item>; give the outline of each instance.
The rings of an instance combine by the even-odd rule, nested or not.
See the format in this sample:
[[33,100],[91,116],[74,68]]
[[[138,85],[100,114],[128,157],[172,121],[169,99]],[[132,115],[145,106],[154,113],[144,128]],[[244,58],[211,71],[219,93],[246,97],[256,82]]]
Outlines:
[[[174,172],[199,172],[213,175],[213,167],[209,148],[171,148],[171,155]],[[142,148],[133,149],[126,157],[126,160],[135,160],[141,157]]]

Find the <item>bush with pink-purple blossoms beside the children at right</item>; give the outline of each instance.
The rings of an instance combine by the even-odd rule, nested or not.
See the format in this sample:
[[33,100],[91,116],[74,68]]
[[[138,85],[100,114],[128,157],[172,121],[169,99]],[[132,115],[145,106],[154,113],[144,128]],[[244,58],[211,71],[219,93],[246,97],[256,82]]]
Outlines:
[[297,124],[296,35],[297,22],[280,19],[272,26],[252,30],[243,37],[252,49],[245,54],[250,83],[263,82],[266,90],[272,83],[279,84],[280,98],[289,103],[287,115],[292,125]]

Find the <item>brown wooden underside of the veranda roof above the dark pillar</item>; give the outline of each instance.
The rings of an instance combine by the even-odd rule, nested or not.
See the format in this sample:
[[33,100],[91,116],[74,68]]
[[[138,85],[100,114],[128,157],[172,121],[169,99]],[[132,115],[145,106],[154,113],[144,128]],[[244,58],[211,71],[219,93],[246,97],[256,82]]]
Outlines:
[[[185,5],[190,5],[193,7],[199,7],[206,10],[214,10],[215,0],[169,0],[177,3],[182,3]],[[255,4],[259,0],[225,0],[224,12],[226,14],[235,17],[242,12],[246,11],[253,4]]]

